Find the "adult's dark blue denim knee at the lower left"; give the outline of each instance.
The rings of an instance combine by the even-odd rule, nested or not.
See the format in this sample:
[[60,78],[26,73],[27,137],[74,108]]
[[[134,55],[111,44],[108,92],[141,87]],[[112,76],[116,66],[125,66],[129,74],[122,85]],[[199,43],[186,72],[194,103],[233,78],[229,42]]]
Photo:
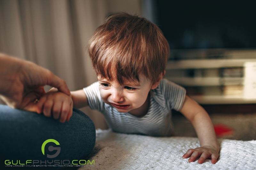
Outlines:
[[16,163],[25,164],[22,165],[27,166],[24,169],[30,169],[33,164],[59,164],[58,167],[48,166],[44,169],[79,165],[79,160],[92,151],[95,138],[92,120],[78,109],[73,109],[69,121],[60,123],[43,114],[0,105],[0,169],[9,169],[6,164]]

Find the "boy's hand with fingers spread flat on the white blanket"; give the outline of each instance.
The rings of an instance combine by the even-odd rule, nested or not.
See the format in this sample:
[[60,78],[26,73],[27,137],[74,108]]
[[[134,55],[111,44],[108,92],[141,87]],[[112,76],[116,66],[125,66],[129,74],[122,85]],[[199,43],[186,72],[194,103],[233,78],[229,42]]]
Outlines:
[[188,157],[190,157],[188,162],[194,162],[197,157],[200,157],[197,161],[199,164],[202,164],[207,158],[212,159],[212,163],[215,164],[219,158],[219,152],[211,146],[202,146],[196,149],[189,149],[182,156],[183,159]]

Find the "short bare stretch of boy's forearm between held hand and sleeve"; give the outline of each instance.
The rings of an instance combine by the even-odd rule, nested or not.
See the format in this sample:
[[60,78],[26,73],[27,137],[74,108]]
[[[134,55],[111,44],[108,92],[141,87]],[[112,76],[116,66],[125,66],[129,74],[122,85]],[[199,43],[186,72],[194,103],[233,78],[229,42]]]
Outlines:
[[87,97],[83,89],[71,91],[71,96],[73,100],[73,107],[79,109],[81,107],[88,106]]

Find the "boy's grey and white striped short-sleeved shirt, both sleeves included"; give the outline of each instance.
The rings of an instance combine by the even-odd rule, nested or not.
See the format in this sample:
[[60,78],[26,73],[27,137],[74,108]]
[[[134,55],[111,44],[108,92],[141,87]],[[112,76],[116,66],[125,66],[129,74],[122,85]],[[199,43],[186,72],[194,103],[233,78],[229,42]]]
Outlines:
[[166,79],[161,80],[156,89],[150,90],[148,113],[136,117],[129,112],[121,113],[106,104],[100,97],[99,82],[83,89],[92,110],[100,111],[106,118],[108,127],[115,132],[143,134],[150,136],[170,136],[173,129],[171,110],[182,107],[186,90]]

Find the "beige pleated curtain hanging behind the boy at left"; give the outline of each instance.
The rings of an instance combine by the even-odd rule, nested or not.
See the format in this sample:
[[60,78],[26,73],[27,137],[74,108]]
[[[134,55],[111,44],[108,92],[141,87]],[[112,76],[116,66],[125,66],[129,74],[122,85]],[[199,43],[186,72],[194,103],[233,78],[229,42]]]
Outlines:
[[[0,0],[0,52],[51,70],[71,91],[82,89],[97,81],[87,51],[95,29],[110,13],[140,15],[140,6],[140,0]],[[107,128],[99,112],[81,110],[96,128]]]

